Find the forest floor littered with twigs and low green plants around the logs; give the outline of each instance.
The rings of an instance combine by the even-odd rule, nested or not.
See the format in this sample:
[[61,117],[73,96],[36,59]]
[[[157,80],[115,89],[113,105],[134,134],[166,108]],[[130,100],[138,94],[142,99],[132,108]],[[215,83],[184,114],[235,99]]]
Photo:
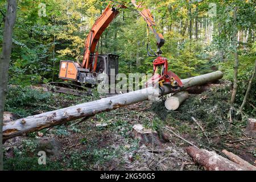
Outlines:
[[[15,96],[15,97],[14,97]],[[100,98],[44,93],[31,88],[10,88],[7,111],[19,117],[35,115]],[[248,115],[230,110],[230,90],[224,86],[191,94],[176,111],[162,100],[143,101],[117,110],[79,119],[6,141],[7,170],[203,170],[186,154],[189,144],[168,133],[172,129],[200,148],[226,149],[251,164],[256,162],[255,140],[243,134]],[[193,122],[195,117],[203,133]],[[131,137],[135,124],[167,135],[170,142],[140,144]],[[101,125],[98,125],[101,124]],[[206,137],[207,136],[207,137]],[[208,138],[208,139],[207,139]],[[38,164],[38,151],[46,151],[46,165]]]

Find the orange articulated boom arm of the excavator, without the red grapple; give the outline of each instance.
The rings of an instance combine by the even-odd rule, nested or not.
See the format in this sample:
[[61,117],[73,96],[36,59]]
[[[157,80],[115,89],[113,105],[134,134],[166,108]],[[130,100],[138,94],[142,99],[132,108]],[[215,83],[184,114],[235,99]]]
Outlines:
[[[158,55],[160,55],[162,52],[160,51],[160,48],[164,44],[164,38],[162,34],[159,34],[155,30],[155,22],[152,14],[150,13],[149,9],[144,9],[142,5],[136,5],[135,0],[131,0],[133,5],[137,9],[143,9],[142,11],[139,11],[139,14],[142,15],[144,20],[147,22],[148,27],[150,30],[155,34],[156,37],[156,46],[158,47]],[[101,14],[100,18],[96,20],[96,22],[93,24],[92,29],[90,30],[86,40],[85,40],[85,52],[84,57],[82,59],[82,68],[88,69],[88,72],[93,71],[96,67],[93,67],[93,60],[92,60],[92,54],[94,53],[98,40],[100,39],[101,34],[105,31],[105,29],[109,26],[109,24],[112,22],[113,19],[115,19],[119,14],[119,9],[126,9],[126,6],[119,5],[117,7],[111,6],[109,4],[104,12]]]

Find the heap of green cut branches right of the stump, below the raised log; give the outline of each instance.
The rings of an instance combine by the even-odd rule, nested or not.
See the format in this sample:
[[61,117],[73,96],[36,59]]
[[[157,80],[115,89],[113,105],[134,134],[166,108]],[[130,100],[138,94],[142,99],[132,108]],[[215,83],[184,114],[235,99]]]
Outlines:
[[[189,134],[191,138],[201,132],[200,129],[198,131],[191,129],[191,125],[195,124],[191,117],[196,118],[209,135],[217,132],[220,135],[230,133],[241,137],[242,128],[246,126],[249,116],[246,113],[240,113],[238,109],[230,110],[230,94],[228,87],[215,88],[200,95],[189,96],[175,111],[166,110],[164,101],[155,102],[152,111],[158,114],[164,125],[172,126],[182,134]],[[206,138],[203,140],[207,143]],[[224,145],[221,142],[220,144]]]

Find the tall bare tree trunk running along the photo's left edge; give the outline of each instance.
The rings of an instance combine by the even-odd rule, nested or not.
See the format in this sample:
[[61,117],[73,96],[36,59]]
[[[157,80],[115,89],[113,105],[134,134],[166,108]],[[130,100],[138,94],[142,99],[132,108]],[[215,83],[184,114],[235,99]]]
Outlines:
[[3,47],[0,61],[0,170],[3,170],[3,111],[7,92],[8,71],[13,43],[13,27],[16,19],[16,0],[7,1],[7,13],[3,30]]

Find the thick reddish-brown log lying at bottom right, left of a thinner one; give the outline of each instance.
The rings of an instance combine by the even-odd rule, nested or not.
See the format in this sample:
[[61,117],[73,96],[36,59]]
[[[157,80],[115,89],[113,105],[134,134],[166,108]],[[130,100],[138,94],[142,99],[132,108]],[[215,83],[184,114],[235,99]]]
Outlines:
[[207,171],[247,171],[248,169],[234,163],[216,152],[209,152],[193,146],[186,148],[186,152],[193,160],[204,167]]

